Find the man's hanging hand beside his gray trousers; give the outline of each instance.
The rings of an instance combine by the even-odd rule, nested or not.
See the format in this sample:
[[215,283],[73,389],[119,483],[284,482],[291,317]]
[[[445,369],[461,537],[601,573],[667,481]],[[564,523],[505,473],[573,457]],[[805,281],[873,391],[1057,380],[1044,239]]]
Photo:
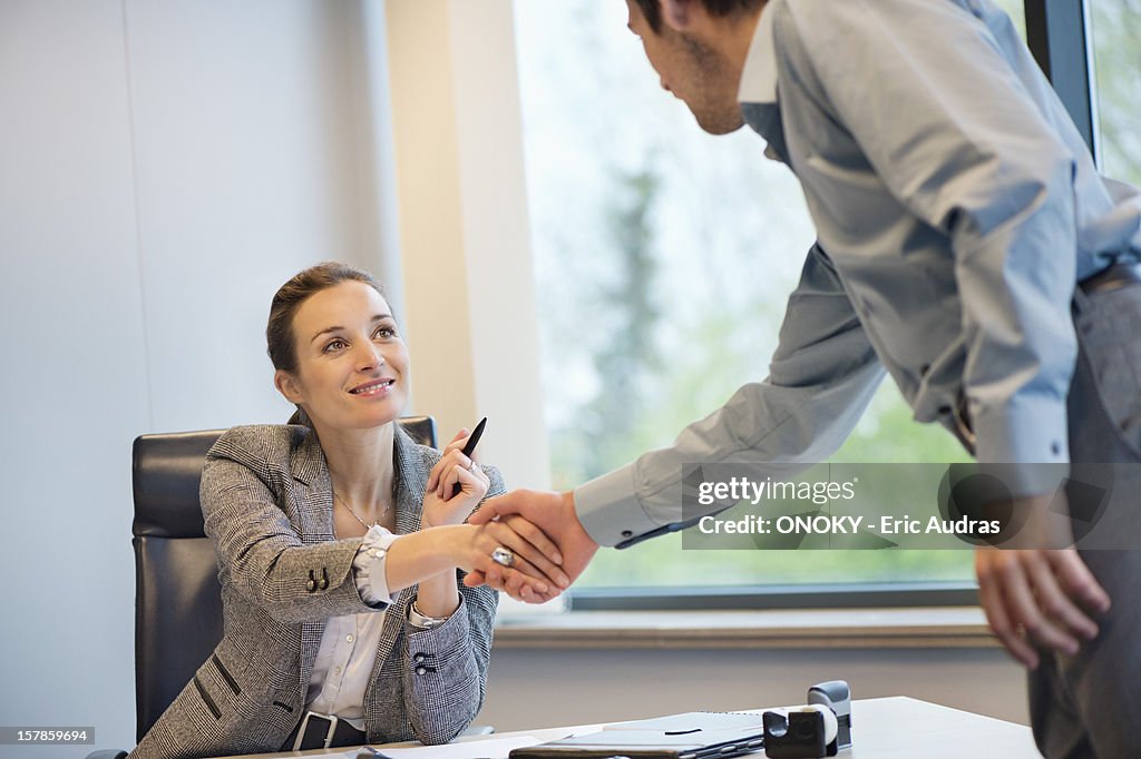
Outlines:
[[1109,610],[1109,595],[1076,548],[974,552],[979,599],[990,629],[1006,650],[1034,669],[1037,648],[1076,654],[1098,635],[1086,612]]

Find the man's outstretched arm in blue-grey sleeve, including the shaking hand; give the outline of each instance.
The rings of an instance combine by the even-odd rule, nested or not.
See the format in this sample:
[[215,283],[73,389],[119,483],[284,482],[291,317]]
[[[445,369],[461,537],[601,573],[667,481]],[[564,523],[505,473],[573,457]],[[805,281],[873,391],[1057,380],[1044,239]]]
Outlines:
[[883,367],[839,276],[815,246],[790,297],[768,379],[738,390],[669,448],[573,493],[513,491],[491,499],[471,522],[524,516],[558,544],[564,571],[576,578],[599,546],[681,522],[683,464],[768,463],[774,475],[790,475],[826,459],[882,378]]

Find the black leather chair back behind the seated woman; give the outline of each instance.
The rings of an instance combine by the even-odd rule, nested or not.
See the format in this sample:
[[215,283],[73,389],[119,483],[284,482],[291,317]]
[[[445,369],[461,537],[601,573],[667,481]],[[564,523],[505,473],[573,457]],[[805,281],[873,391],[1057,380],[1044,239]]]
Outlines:
[[[429,416],[400,425],[436,446]],[[141,740],[221,640],[221,589],[213,545],[202,528],[199,483],[207,451],[224,430],[135,440],[135,708]]]

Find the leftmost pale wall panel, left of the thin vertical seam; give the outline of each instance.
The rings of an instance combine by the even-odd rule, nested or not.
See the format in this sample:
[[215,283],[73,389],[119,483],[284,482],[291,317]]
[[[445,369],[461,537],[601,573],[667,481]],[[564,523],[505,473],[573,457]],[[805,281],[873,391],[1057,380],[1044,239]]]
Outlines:
[[129,447],[151,419],[123,52],[119,2],[0,5],[0,713],[118,742]]

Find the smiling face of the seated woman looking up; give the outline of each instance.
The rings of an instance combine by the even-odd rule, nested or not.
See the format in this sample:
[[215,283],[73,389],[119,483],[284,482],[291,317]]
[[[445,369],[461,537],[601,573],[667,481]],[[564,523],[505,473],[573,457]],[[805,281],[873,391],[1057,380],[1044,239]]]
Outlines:
[[315,425],[364,430],[400,416],[408,397],[408,349],[385,297],[342,281],[301,303],[293,316],[297,370],[274,384]]

